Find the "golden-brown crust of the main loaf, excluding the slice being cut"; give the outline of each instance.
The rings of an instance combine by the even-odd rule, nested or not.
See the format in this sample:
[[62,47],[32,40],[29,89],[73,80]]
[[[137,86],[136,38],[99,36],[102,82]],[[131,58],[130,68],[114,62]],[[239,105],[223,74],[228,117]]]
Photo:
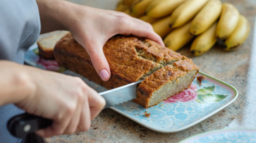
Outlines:
[[[150,48],[147,49],[147,47]],[[161,64],[140,56],[137,49],[143,50],[144,53],[152,55],[158,60],[176,61],[182,58],[181,54],[162,47],[151,40],[138,39],[134,36],[114,36],[103,47],[111,70],[111,78],[104,82],[94,70],[89,54],[73,39],[71,33],[68,33],[56,43],[54,55],[61,66],[108,89],[112,89],[139,81],[152,69],[155,68],[154,72],[161,68]],[[161,52],[157,52],[158,50]]]

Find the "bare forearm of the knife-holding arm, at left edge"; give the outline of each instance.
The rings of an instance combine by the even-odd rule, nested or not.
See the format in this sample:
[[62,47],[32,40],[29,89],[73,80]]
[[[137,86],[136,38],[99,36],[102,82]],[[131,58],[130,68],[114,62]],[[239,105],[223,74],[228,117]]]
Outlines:
[[34,88],[25,67],[3,60],[0,67],[0,106],[25,100]]

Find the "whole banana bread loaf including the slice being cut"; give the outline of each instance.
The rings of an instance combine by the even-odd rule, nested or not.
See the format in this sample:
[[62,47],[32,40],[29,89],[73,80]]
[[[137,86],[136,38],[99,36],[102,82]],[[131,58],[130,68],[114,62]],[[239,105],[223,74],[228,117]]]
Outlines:
[[61,66],[107,89],[145,79],[133,100],[143,107],[153,106],[188,88],[199,70],[191,59],[135,36],[113,36],[105,43],[103,51],[111,70],[108,81],[102,81],[90,56],[70,33],[58,41],[54,56]]

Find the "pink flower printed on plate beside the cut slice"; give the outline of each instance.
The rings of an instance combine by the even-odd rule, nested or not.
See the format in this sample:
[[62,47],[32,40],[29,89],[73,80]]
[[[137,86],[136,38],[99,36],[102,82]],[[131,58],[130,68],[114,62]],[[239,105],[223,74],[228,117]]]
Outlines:
[[166,103],[176,103],[178,101],[181,101],[181,102],[195,101],[197,98],[196,90],[197,90],[196,85],[191,84],[188,89],[185,89],[182,92],[164,100],[163,103],[166,104]]

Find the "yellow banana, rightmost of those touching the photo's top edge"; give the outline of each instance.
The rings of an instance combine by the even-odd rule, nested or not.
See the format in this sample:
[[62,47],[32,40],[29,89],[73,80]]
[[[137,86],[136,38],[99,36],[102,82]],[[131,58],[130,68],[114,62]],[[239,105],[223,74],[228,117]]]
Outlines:
[[220,16],[222,3],[220,0],[209,0],[193,18],[190,33],[199,35],[205,32]]

